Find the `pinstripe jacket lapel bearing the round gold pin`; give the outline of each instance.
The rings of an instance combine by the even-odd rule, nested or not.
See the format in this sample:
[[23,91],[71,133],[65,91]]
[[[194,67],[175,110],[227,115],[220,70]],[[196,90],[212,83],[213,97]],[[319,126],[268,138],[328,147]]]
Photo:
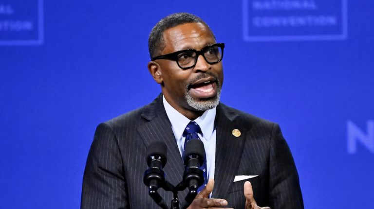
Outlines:
[[[224,104],[217,106],[216,115],[216,165],[212,198],[227,198],[228,189],[234,181],[241,160],[246,129],[238,124],[238,115]],[[232,134],[241,132],[239,137]]]

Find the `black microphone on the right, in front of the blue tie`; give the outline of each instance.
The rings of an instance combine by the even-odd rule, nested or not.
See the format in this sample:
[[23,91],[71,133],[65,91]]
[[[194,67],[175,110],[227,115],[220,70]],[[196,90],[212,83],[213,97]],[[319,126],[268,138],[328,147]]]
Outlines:
[[200,166],[204,163],[205,149],[204,144],[199,139],[190,139],[185,146],[184,163],[186,171],[183,181],[187,185],[189,192],[185,198],[191,203],[197,195],[197,189],[204,184],[203,171]]

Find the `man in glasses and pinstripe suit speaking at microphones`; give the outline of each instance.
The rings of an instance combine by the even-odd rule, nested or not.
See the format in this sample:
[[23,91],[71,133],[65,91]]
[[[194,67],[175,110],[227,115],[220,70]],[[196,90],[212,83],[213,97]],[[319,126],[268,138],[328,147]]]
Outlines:
[[[165,17],[150,32],[149,51],[148,70],[162,93],[98,125],[81,209],[159,209],[143,183],[147,147],[167,144],[165,178],[177,185],[193,134],[204,143],[206,181],[189,206],[181,201],[182,208],[303,209],[298,173],[279,125],[220,103],[224,43],[208,25],[188,13]],[[172,193],[159,192],[170,203]],[[187,192],[179,192],[179,199]]]

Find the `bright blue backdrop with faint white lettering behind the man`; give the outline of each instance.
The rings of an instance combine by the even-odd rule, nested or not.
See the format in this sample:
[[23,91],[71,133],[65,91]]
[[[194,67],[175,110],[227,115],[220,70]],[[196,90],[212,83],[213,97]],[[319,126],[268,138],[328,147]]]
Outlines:
[[305,208],[373,209],[373,8],[369,0],[0,0],[0,208],[79,208],[96,125],[159,94],[148,35],[184,11],[226,45],[222,102],[281,125]]

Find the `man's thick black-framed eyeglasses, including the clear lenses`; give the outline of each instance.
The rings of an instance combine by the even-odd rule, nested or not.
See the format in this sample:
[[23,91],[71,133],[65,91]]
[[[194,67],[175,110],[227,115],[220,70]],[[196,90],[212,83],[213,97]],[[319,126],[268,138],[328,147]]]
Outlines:
[[199,55],[203,55],[205,61],[209,64],[221,62],[224,57],[224,43],[212,44],[204,47],[202,50],[197,51],[194,49],[182,50],[172,52],[169,54],[153,57],[151,60],[156,59],[169,59],[175,60],[181,69],[190,69],[195,67]]

